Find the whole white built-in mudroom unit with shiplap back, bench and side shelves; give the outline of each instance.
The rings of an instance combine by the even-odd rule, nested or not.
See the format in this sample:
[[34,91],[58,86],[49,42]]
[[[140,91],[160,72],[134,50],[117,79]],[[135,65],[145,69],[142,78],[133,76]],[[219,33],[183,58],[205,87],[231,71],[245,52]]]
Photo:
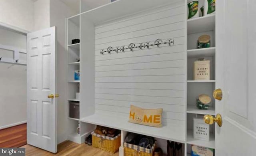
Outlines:
[[[215,15],[187,20],[186,0],[162,0],[162,4],[166,5],[157,1],[119,0],[96,8],[81,0],[80,14],[67,19],[67,101],[76,101],[77,91],[81,95],[80,118],[68,118],[69,129],[75,129],[75,123],[81,122],[81,134],[78,137],[71,130],[70,140],[78,137],[76,141],[81,143],[95,125],[101,125],[121,130],[121,141],[127,132],[153,136],[165,153],[166,140],[183,143],[188,151],[185,156],[190,154],[190,144],[214,148],[214,127],[211,126],[210,141],[200,141],[193,138],[192,123],[198,115],[215,115]],[[197,49],[202,34],[210,35],[211,46]],[[80,43],[72,45],[74,38],[80,39]],[[154,42],[158,38],[174,38],[175,44],[100,54],[110,46]],[[198,57],[210,60],[210,80],[193,79],[194,61]],[[80,81],[72,79],[74,70],[80,70]],[[196,108],[200,94],[212,98],[208,110]],[[163,126],[128,122],[131,104],[163,108]],[[121,144],[120,156],[124,155],[123,150]]]

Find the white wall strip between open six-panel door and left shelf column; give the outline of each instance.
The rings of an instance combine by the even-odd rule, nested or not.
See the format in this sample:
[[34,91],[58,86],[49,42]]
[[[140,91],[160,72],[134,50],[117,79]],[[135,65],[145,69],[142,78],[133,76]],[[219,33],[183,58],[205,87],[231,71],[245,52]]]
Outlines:
[[[58,9],[56,9],[58,8]],[[58,143],[66,140],[66,18],[76,12],[60,0],[50,0],[50,26],[57,27]]]

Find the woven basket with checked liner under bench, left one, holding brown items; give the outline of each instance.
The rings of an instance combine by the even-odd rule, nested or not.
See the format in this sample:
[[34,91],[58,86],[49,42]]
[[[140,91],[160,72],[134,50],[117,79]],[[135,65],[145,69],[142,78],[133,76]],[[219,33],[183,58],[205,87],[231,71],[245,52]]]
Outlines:
[[92,146],[106,152],[115,153],[121,146],[121,134],[111,138],[92,132]]

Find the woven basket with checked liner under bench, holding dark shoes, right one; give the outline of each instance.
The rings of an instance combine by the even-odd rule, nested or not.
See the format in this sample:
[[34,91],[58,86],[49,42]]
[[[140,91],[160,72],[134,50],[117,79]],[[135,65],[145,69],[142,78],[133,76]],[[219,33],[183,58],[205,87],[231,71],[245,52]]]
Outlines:
[[125,156],[153,156],[155,148],[156,141],[150,149],[124,142]]

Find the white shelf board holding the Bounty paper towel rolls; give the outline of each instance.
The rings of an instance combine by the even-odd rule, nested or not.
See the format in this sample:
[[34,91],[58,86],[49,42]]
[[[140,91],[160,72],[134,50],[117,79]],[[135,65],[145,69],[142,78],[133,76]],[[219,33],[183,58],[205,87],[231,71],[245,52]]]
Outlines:
[[188,34],[208,32],[215,28],[215,14],[188,20]]

